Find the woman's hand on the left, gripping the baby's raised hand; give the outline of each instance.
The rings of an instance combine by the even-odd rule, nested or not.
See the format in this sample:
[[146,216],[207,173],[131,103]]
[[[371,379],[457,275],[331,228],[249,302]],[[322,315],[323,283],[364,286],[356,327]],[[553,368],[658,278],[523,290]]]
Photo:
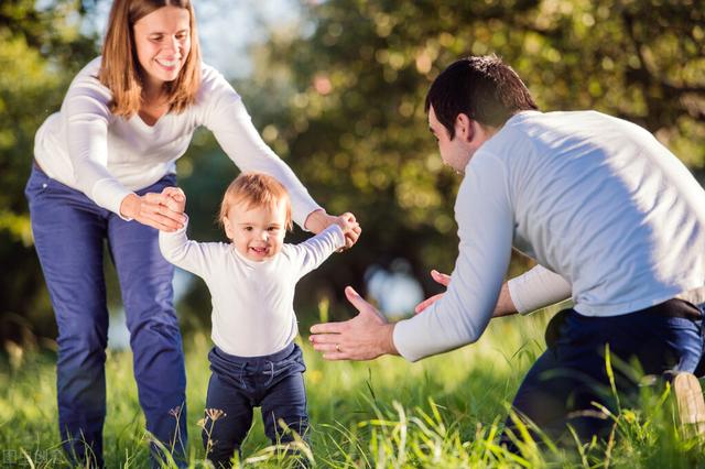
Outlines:
[[158,230],[176,231],[183,228],[186,217],[169,208],[170,204],[173,201],[166,194],[130,194],[120,204],[120,215]]

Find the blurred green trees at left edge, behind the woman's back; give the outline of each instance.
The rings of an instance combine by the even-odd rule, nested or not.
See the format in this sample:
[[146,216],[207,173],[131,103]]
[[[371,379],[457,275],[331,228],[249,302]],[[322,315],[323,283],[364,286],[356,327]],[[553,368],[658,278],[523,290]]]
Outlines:
[[51,337],[48,295],[32,248],[23,189],[34,132],[61,106],[74,74],[96,55],[96,39],[80,34],[83,7],[55,0],[0,4],[0,341]]

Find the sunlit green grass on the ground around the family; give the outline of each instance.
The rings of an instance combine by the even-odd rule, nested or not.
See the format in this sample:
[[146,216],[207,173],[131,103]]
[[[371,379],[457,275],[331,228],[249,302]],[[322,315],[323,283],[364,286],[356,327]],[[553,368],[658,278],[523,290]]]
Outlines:
[[[477,343],[406,363],[326,362],[303,340],[311,416],[310,466],[335,468],[692,468],[705,467],[703,439],[679,433],[669,390],[644,388],[642,403],[614,416],[607,444],[539,449],[520,456],[498,445],[507,408],[523,373],[543,349],[549,316],[499,319]],[[302,327],[304,330],[305,327]],[[306,335],[307,337],[307,335]],[[187,455],[207,467],[198,422],[207,380],[205,334],[184,339],[187,367]],[[108,467],[149,466],[148,436],[129,351],[109,352],[105,457]],[[0,360],[0,466],[67,467],[56,417],[55,357],[8,348]],[[305,458],[305,456],[304,456]],[[243,445],[243,467],[296,467],[269,446],[257,418]]]

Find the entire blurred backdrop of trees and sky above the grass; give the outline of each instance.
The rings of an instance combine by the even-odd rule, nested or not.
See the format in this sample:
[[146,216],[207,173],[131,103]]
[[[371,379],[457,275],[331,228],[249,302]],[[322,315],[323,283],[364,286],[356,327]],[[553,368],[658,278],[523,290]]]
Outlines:
[[[55,324],[33,250],[23,187],[34,132],[99,54],[107,0],[0,3],[0,341],[53,348]],[[364,234],[304,279],[305,326],[329,304],[352,308],[345,285],[390,317],[437,293],[429,272],[453,270],[453,201],[459,182],[429,134],[425,91],[467,54],[497,53],[544,110],[594,108],[653,132],[703,179],[705,6],[701,0],[499,0],[399,2],[198,0],[204,59],[242,95],[264,140],[332,214],[352,211]],[[214,223],[237,175],[207,131],[178,161],[192,237],[223,240]],[[290,234],[296,242],[307,234]],[[108,259],[108,258],[107,258]],[[510,274],[525,269],[514,259]],[[119,288],[106,262],[111,323]],[[204,284],[175,279],[184,334],[209,328]],[[302,327],[302,329],[304,329]],[[113,327],[111,347],[127,335]]]

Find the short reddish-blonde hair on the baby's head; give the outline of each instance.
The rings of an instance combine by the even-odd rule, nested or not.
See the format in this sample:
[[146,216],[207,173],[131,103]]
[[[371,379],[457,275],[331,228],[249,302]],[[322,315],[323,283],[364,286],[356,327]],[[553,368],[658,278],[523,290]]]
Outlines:
[[247,208],[275,207],[282,200],[286,204],[285,228],[291,230],[291,200],[282,183],[263,173],[242,173],[226,189],[218,221],[224,225],[225,217],[235,204],[245,203]]

